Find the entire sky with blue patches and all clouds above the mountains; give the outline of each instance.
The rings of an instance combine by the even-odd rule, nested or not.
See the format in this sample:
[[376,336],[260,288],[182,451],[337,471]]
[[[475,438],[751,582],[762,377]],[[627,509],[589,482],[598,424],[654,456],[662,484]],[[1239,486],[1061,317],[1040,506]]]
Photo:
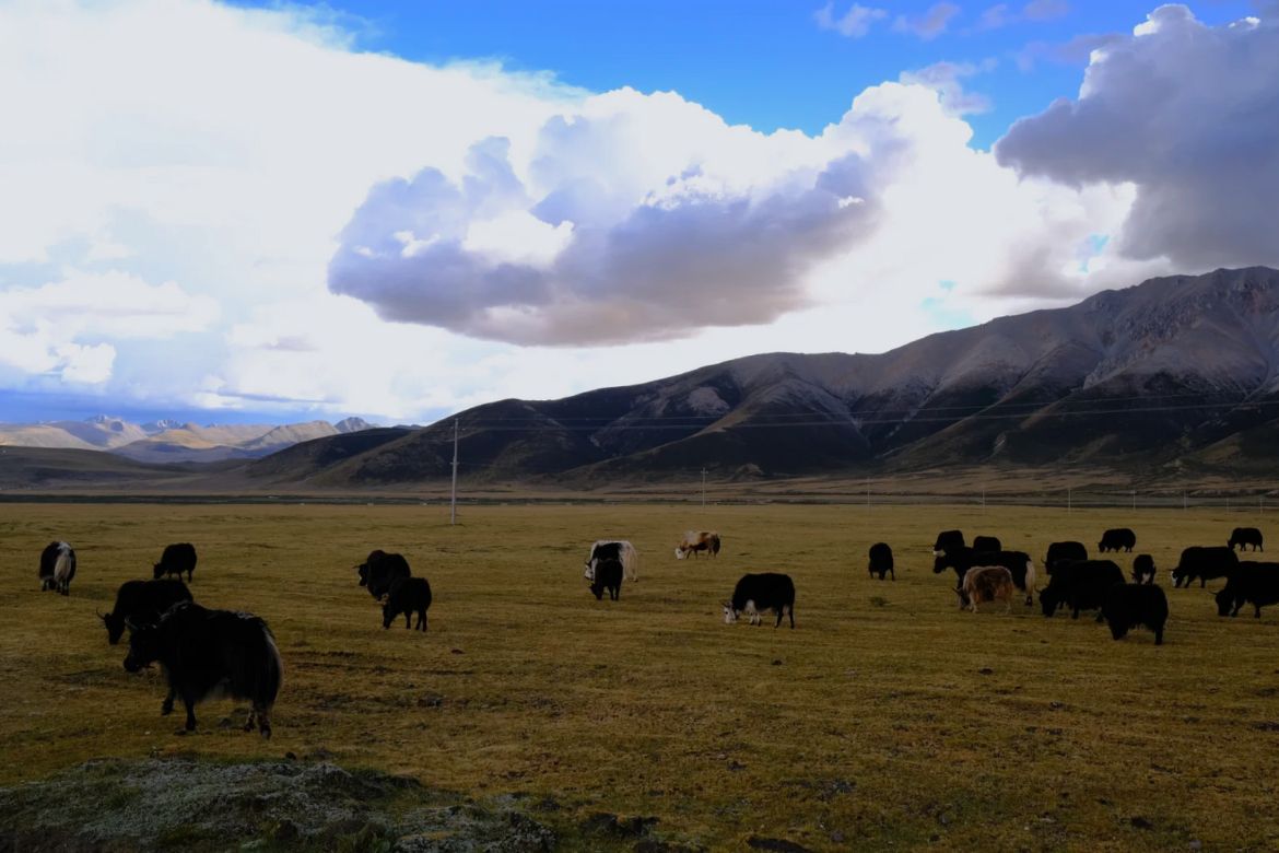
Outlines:
[[1279,266],[1279,3],[0,0],[0,422],[427,423]]

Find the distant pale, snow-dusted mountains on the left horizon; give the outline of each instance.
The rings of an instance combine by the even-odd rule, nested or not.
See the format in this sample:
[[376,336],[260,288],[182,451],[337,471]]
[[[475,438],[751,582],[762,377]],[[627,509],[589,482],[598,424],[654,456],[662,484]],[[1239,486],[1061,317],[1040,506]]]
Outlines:
[[109,450],[137,462],[223,462],[253,459],[299,441],[371,428],[361,418],[338,425],[326,421],[276,426],[182,423],[160,419],[145,425],[97,416],[86,421],[0,425],[0,445],[72,450]]

